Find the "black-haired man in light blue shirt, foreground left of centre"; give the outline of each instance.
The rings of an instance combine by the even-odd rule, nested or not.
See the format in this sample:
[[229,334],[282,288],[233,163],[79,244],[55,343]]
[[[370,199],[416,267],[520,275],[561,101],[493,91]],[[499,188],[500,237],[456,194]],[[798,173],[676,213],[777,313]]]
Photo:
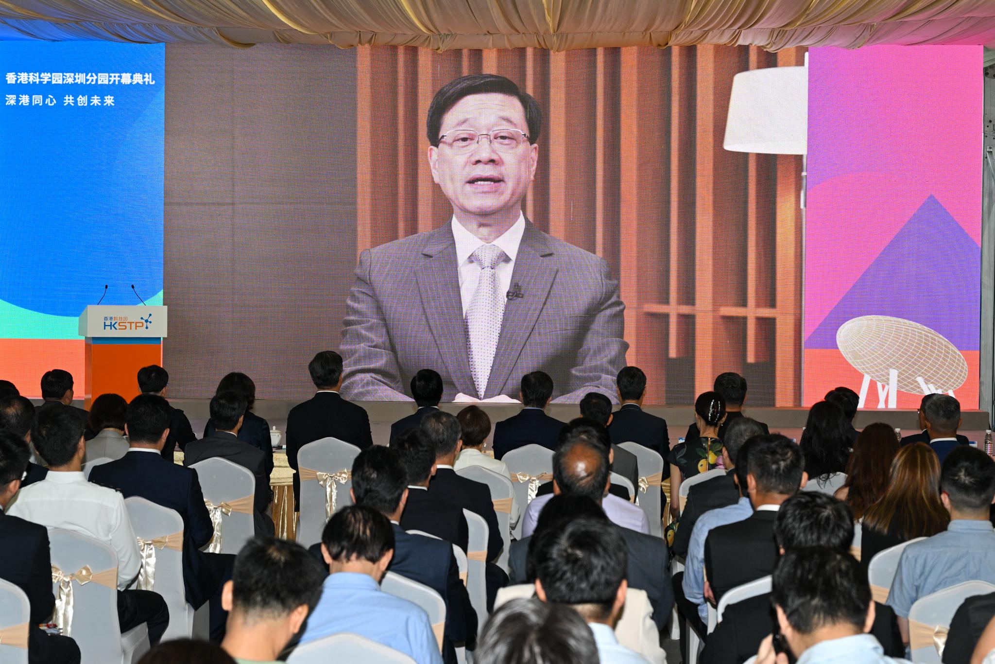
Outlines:
[[328,520],[321,534],[328,576],[300,643],[351,632],[408,655],[442,662],[429,617],[419,606],[380,589],[394,554],[394,531],[373,508],[351,505]]

